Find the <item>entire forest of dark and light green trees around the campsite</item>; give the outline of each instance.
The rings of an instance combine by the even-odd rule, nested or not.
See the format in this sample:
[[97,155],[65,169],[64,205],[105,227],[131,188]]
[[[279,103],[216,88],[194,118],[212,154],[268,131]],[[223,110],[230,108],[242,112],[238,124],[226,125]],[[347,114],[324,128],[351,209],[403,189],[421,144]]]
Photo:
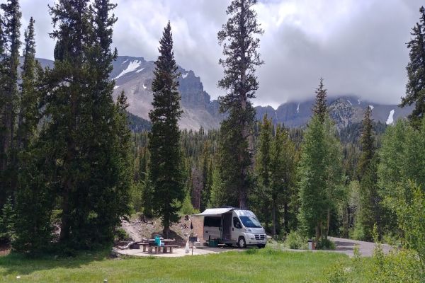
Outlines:
[[[390,243],[425,266],[425,10],[407,44],[407,119],[338,131],[325,80],[305,127],[256,121],[263,30],[255,0],[234,0],[217,34],[224,70],[220,129],[181,130],[172,23],[159,40],[149,120],[127,112],[110,80],[115,4],[58,0],[50,6],[55,65],[35,59],[35,24],[21,42],[18,0],[0,13],[0,241],[16,253],[72,253],[113,243],[123,216],[158,217],[164,235],[179,215],[210,207],[251,209],[276,241],[328,236]],[[409,33],[409,30],[406,31]],[[40,47],[42,48],[42,47]],[[21,52],[23,50],[23,52]],[[20,57],[23,63],[19,63]],[[301,240],[300,240],[301,241]],[[422,277],[423,278],[423,277]]]

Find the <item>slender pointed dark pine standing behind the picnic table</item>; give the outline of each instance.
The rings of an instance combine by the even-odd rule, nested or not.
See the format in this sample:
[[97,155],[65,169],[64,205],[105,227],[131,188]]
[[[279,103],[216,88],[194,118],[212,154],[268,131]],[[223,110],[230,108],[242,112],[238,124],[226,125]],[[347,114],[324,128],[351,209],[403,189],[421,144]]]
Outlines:
[[149,152],[151,154],[149,177],[154,187],[154,212],[161,216],[164,236],[169,236],[169,227],[178,219],[179,205],[183,201],[183,175],[181,149],[179,145],[180,100],[177,91],[176,61],[174,60],[171,25],[164,28],[159,41],[159,57],[155,62],[152,91],[153,110],[149,112],[152,132],[149,134]]

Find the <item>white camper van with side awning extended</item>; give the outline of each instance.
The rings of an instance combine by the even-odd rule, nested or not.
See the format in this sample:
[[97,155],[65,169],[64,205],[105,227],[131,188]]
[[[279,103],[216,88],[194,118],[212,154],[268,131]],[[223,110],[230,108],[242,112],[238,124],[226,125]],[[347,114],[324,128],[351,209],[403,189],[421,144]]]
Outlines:
[[217,240],[227,246],[237,244],[239,248],[266,246],[266,231],[250,210],[234,207],[212,208],[193,216],[203,216],[205,241]]

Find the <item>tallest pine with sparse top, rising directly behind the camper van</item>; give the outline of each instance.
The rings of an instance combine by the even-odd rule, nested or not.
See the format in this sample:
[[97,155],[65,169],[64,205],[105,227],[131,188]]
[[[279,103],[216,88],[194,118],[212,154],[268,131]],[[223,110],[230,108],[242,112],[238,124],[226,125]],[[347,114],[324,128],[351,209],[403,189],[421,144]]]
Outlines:
[[255,37],[263,30],[256,21],[254,4],[256,0],[233,0],[226,11],[230,18],[217,34],[225,56],[220,59],[225,77],[218,86],[227,91],[220,98],[220,110],[228,113],[221,125],[220,166],[227,190],[237,194],[239,207],[247,207],[252,184],[249,169],[255,110],[250,99],[259,88],[255,68],[263,64],[257,51],[259,39]]

